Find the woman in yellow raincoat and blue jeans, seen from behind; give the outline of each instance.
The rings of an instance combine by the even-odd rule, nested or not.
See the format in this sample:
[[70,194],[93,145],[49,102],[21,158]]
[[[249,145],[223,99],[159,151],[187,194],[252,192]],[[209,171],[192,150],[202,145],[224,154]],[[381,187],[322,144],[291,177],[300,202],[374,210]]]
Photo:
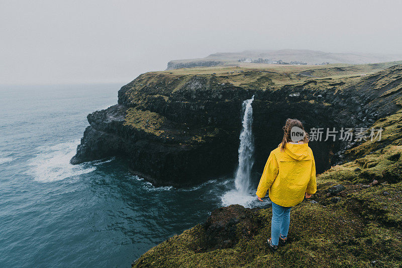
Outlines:
[[[278,243],[286,243],[291,207],[317,191],[316,165],[302,122],[287,119],[283,130],[283,140],[269,154],[256,192],[258,200],[262,201],[269,190],[272,221],[271,238],[267,243],[272,252],[276,251]],[[303,135],[294,135],[297,130]]]

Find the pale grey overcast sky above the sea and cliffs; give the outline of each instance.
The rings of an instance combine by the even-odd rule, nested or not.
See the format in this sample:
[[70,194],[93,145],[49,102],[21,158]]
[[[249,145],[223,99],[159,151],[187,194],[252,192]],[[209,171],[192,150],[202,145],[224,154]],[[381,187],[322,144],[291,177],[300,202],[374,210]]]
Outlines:
[[0,84],[128,83],[246,49],[402,54],[402,1],[0,0]]

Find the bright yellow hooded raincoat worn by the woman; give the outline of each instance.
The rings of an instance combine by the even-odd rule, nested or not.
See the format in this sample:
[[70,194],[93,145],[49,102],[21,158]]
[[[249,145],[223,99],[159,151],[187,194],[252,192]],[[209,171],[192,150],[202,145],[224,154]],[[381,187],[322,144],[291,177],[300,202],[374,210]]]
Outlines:
[[279,147],[271,152],[256,195],[263,198],[268,189],[271,201],[283,207],[302,202],[305,192],[317,191],[316,163],[307,143],[287,143],[284,152]]

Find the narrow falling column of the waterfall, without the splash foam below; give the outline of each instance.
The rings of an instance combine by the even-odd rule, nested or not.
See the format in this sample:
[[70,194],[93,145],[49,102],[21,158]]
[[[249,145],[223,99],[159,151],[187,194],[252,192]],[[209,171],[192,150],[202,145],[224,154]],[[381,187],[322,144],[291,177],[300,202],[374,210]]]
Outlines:
[[242,105],[243,127],[240,132],[239,166],[237,167],[235,177],[236,190],[241,193],[249,191],[251,168],[254,164],[254,138],[251,129],[253,124],[253,107],[251,106],[251,103],[253,100],[254,96],[251,99],[243,101]]

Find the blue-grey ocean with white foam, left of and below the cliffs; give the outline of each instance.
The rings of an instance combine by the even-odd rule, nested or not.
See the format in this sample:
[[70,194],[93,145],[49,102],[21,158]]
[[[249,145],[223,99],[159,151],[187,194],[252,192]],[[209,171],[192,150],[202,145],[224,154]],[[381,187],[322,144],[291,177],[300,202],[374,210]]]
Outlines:
[[0,267],[130,267],[228,205],[233,176],[154,187],[124,159],[69,164],[86,115],[116,104],[121,86],[0,87]]

